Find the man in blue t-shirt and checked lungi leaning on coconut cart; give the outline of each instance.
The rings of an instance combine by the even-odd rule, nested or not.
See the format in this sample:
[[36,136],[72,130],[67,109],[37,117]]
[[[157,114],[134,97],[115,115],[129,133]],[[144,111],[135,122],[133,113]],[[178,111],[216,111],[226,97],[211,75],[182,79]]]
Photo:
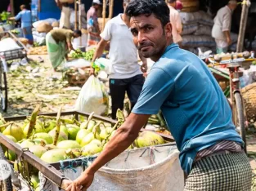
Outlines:
[[173,43],[166,3],[136,0],[129,3],[126,13],[131,17],[138,51],[155,64],[126,122],[66,190],[88,188],[95,172],[127,149],[150,115],[159,109],[181,152],[181,166],[188,175],[186,191],[250,190],[249,161],[227,99],[208,67]]

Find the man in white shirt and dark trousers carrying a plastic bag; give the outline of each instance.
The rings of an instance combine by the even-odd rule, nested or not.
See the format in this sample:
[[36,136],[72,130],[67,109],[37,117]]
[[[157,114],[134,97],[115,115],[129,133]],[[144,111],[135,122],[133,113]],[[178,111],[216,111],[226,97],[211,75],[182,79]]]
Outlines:
[[[124,0],[124,12],[130,0]],[[117,109],[124,109],[124,97],[127,92],[131,106],[137,103],[145,81],[146,59],[141,57],[142,65],[138,64],[137,47],[133,43],[132,33],[129,29],[130,20],[125,14],[119,14],[106,23],[101,33],[101,42],[92,62],[101,57],[106,45],[110,42],[110,96],[112,102],[112,118],[116,118]],[[142,72],[141,72],[142,71]],[[93,69],[92,69],[92,73]]]

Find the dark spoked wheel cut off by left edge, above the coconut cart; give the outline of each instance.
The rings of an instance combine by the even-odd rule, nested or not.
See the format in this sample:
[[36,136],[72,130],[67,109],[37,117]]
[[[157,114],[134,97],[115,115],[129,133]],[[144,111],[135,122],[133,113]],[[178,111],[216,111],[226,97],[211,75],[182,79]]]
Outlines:
[[1,100],[1,109],[3,112],[7,112],[8,104],[8,88],[7,88],[7,73],[3,72],[1,69],[0,76],[0,100]]

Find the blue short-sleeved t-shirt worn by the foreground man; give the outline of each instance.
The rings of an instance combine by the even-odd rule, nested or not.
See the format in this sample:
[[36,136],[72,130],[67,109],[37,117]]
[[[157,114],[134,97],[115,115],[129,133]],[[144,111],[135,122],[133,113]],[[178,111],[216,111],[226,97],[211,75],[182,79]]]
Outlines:
[[198,151],[221,140],[244,144],[227,99],[207,65],[174,43],[151,68],[132,113],[155,114],[159,109],[187,174]]

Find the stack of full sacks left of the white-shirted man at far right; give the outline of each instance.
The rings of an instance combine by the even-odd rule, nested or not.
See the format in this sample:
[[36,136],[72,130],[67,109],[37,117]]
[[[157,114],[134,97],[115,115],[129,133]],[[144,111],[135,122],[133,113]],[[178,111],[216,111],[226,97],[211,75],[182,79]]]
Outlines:
[[198,47],[202,51],[215,51],[211,16],[204,11],[181,12],[180,16],[183,24],[182,47],[195,54],[198,54]]

